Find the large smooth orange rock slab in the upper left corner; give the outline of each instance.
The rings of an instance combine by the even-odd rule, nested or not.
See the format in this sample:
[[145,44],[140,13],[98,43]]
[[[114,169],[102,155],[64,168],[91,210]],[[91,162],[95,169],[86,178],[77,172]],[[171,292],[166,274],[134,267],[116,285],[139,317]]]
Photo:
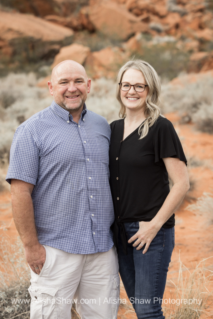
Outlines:
[[71,29],[29,14],[0,11],[0,55],[43,58],[72,42]]

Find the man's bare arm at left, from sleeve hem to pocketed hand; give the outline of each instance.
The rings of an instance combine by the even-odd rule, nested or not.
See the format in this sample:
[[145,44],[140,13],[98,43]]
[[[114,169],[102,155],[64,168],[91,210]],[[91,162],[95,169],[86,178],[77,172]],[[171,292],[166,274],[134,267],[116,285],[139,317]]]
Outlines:
[[[24,244],[25,257],[32,271],[40,274],[46,260],[46,250],[39,243],[31,194],[34,185],[11,179],[11,199],[13,219]],[[37,268],[38,269],[35,269]]]

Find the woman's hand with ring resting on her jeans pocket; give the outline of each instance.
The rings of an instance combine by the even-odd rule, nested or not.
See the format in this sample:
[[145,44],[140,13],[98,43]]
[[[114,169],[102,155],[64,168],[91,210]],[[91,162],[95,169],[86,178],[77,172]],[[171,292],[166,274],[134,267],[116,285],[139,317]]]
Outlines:
[[[137,250],[140,250],[146,244],[143,250],[143,254],[145,254],[151,241],[153,238],[155,238],[158,231],[159,229],[156,228],[151,221],[140,221],[138,232],[128,240],[128,243],[131,244],[131,242],[137,239],[133,243],[133,247],[137,247],[139,245],[136,248]],[[143,246],[141,244],[143,244]]]

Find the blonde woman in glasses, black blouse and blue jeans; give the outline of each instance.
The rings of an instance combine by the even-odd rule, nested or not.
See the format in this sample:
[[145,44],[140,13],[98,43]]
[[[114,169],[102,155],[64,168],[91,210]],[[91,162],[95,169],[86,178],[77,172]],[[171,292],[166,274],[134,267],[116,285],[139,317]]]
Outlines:
[[186,158],[173,125],[160,114],[159,94],[159,78],[147,62],[131,60],[119,70],[122,119],[110,124],[114,243],[139,319],[165,318],[161,303],[174,248],[174,212],[189,189]]

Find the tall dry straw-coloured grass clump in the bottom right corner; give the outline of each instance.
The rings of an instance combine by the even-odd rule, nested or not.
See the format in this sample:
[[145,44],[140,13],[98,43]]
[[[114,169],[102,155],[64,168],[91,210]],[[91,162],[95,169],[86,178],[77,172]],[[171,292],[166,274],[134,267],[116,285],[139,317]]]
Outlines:
[[[179,256],[179,275],[177,280],[171,280],[175,286],[171,299],[176,302],[169,306],[162,304],[166,319],[212,318],[213,311],[209,309],[213,299],[212,259],[213,256],[203,259],[191,271],[180,261]],[[193,300],[193,303],[186,303],[186,300]]]

